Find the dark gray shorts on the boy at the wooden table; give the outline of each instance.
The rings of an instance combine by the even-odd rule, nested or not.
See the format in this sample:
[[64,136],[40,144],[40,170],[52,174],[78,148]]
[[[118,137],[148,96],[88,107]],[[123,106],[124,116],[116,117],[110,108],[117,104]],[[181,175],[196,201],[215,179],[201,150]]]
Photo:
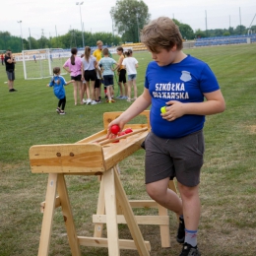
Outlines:
[[176,177],[179,183],[188,187],[200,183],[205,151],[202,130],[178,139],[163,139],[151,132],[142,147],[146,150],[146,184],[166,177]]

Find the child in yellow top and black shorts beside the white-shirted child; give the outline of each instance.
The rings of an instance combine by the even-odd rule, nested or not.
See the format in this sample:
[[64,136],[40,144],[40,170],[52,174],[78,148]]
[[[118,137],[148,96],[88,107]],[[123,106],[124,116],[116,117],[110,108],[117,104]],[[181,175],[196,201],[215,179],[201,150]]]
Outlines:
[[127,84],[126,84],[126,69],[122,65],[124,59],[123,47],[117,47],[117,54],[119,55],[119,60],[117,62],[117,71],[118,71],[118,86],[120,90],[120,95],[116,98],[118,99],[127,99]]

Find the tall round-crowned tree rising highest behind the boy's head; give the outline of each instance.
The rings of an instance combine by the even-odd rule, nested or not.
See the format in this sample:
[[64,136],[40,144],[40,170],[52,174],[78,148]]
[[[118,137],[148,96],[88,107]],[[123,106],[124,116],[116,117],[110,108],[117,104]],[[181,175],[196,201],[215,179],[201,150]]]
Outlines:
[[117,0],[110,10],[115,30],[124,41],[140,41],[140,30],[149,23],[148,6],[141,0]]

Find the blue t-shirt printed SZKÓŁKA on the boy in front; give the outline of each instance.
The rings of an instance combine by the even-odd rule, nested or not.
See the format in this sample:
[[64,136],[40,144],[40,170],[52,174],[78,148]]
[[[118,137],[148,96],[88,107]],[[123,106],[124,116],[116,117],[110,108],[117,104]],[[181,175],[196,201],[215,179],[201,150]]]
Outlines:
[[186,102],[204,101],[204,93],[220,89],[218,81],[203,61],[190,55],[179,63],[159,66],[156,61],[148,65],[145,88],[152,96],[152,131],[161,138],[175,139],[203,129],[205,116],[186,114],[174,121],[160,116],[160,107],[169,100]]

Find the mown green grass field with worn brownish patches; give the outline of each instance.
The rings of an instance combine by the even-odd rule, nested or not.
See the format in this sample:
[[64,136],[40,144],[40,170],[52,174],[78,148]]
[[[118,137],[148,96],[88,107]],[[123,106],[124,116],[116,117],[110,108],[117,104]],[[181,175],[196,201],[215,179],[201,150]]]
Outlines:
[[[200,197],[202,216],[198,235],[202,255],[256,255],[256,44],[227,45],[184,50],[207,63],[215,72],[226,102],[222,114],[208,116],[206,154]],[[151,55],[135,53],[139,61],[138,91],[142,93],[145,69]],[[117,57],[117,56],[115,56]],[[49,79],[25,81],[21,63],[16,66],[15,88],[9,93],[4,66],[0,66],[0,255],[37,255],[46,174],[32,174],[29,149],[37,144],[75,143],[102,130],[102,113],[125,110],[129,102],[74,105],[73,87],[67,86],[67,114],[55,112],[57,99],[46,87]],[[69,79],[68,76],[66,76]],[[115,94],[117,86],[115,87]],[[144,151],[120,162],[121,179],[130,199],[148,199],[144,186]],[[79,235],[92,236],[98,182],[95,176],[68,176],[68,190]],[[157,214],[137,210],[138,215]],[[170,218],[171,247],[160,247],[160,228],[142,225],[151,255],[179,255],[175,241],[176,219]],[[121,238],[129,238],[119,225]],[[81,247],[82,255],[105,256],[106,248]],[[55,212],[50,255],[71,255],[60,209]],[[122,256],[139,255],[122,250]]]

